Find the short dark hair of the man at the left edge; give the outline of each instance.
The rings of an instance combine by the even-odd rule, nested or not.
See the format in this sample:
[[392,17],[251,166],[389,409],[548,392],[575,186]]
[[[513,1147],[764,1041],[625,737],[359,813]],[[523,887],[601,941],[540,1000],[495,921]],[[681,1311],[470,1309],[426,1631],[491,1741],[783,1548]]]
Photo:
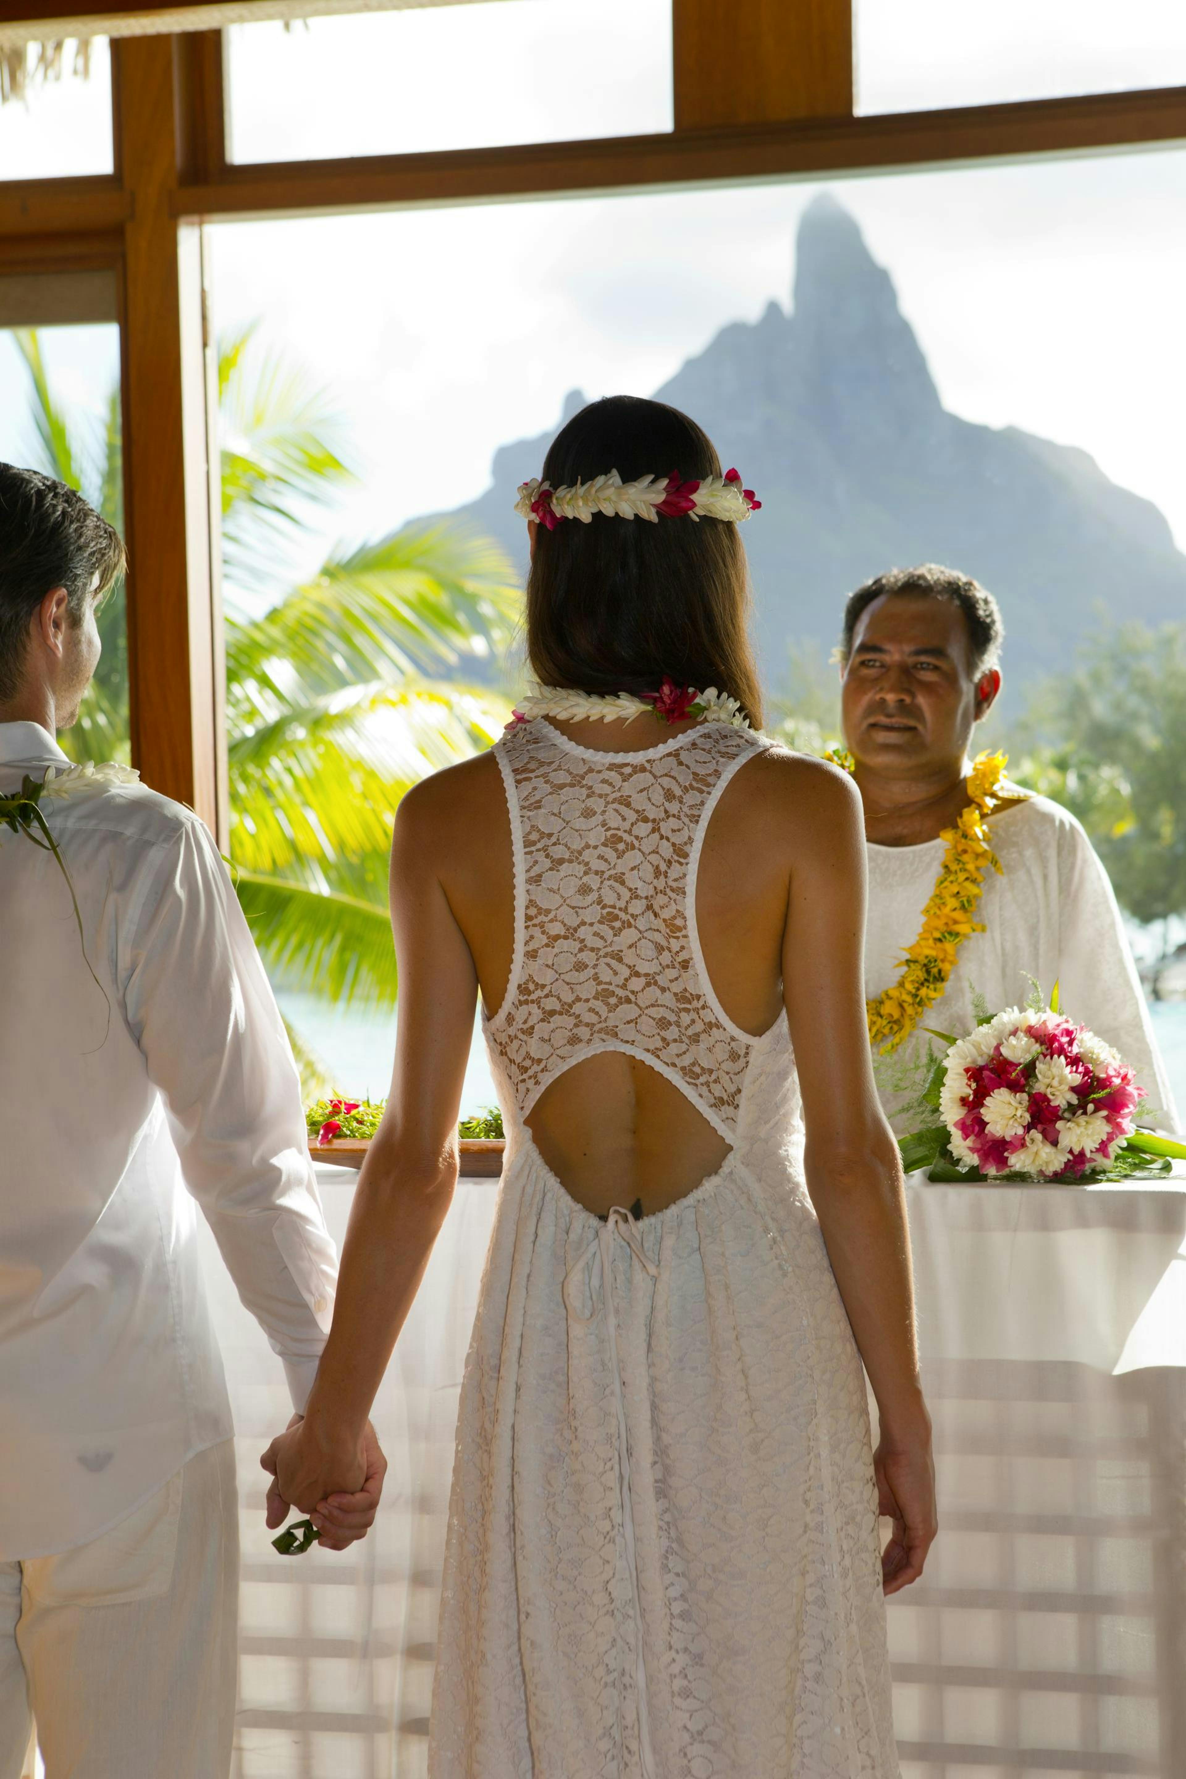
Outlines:
[[28,624],[46,592],[64,587],[78,624],[124,566],[119,532],[82,495],[0,463],[0,699],[20,690]]

